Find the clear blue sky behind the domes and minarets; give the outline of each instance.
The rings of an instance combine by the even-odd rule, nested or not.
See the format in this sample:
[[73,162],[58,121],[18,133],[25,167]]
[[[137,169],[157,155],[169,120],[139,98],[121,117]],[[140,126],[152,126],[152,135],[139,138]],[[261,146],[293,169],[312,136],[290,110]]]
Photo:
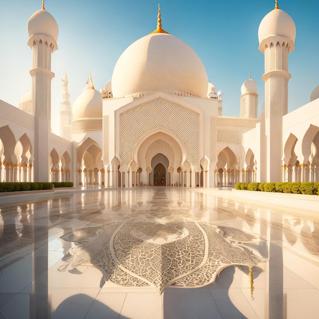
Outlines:
[[[112,78],[121,53],[156,29],[157,1],[46,0],[45,9],[59,25],[59,50],[52,55],[52,116],[58,116],[61,77],[66,70],[70,99],[82,93],[91,72],[97,90]],[[295,21],[296,50],[289,55],[288,112],[309,102],[319,85],[319,1],[279,0]],[[0,99],[15,106],[31,86],[32,52],[26,25],[41,0],[0,2]],[[258,26],[275,1],[161,1],[163,29],[188,43],[201,58],[209,78],[224,93],[223,115],[239,116],[241,86],[251,71],[264,100]]]

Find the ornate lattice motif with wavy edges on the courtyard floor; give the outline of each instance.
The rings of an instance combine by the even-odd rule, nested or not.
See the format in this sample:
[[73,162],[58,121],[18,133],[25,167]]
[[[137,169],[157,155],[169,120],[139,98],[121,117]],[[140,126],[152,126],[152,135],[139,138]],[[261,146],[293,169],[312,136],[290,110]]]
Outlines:
[[192,207],[168,197],[148,207],[130,208],[125,221],[74,230],[61,238],[73,242],[60,271],[93,265],[104,280],[121,286],[200,287],[230,265],[256,270],[262,260],[245,246],[257,237],[242,230],[209,225],[190,214]]

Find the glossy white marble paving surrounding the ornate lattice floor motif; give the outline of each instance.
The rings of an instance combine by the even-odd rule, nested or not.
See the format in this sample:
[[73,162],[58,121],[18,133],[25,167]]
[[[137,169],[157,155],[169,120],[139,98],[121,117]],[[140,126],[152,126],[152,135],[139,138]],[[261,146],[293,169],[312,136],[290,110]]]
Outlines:
[[[240,192],[179,188],[59,192],[9,198],[0,203],[0,319],[52,318],[317,318],[319,313],[319,217],[303,197],[300,216],[288,201],[243,200]],[[62,196],[63,194],[63,196]],[[156,195],[157,194],[157,195]],[[251,195],[252,196],[252,195]],[[262,259],[253,268],[226,267],[215,282],[199,288],[122,286],[104,282],[98,268],[72,270],[62,258],[79,245],[61,236],[85,227],[128,219],[132,209],[159,214],[169,199],[196,221],[256,236],[246,247]],[[282,205],[282,206],[281,206]],[[174,206],[174,207],[175,207]],[[175,208],[174,208],[175,209]],[[291,209],[291,211],[290,211]],[[178,210],[176,210],[176,213]],[[144,213],[143,213],[144,214]],[[160,218],[159,218],[160,220]],[[90,238],[87,238],[90,241]],[[103,245],[103,244],[101,244]],[[88,250],[87,254],[90,255]],[[260,272],[261,271],[261,272]],[[278,295],[279,294],[279,295]],[[276,296],[284,296],[283,299]],[[281,300],[286,300],[281,302]],[[277,312],[274,312],[276,309]],[[279,310],[278,310],[279,309]]]

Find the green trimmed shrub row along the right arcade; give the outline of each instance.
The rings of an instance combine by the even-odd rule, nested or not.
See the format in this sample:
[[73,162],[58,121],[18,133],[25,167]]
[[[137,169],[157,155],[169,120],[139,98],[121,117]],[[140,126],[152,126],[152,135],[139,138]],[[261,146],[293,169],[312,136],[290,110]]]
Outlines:
[[319,182],[236,183],[236,190],[319,195]]

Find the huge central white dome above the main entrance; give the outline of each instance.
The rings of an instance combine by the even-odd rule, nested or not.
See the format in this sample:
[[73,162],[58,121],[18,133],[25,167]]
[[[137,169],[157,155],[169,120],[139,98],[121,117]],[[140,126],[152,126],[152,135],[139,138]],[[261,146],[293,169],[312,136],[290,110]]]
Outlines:
[[112,76],[113,97],[163,91],[205,98],[208,77],[196,52],[165,33],[149,34],[132,43],[118,59]]

